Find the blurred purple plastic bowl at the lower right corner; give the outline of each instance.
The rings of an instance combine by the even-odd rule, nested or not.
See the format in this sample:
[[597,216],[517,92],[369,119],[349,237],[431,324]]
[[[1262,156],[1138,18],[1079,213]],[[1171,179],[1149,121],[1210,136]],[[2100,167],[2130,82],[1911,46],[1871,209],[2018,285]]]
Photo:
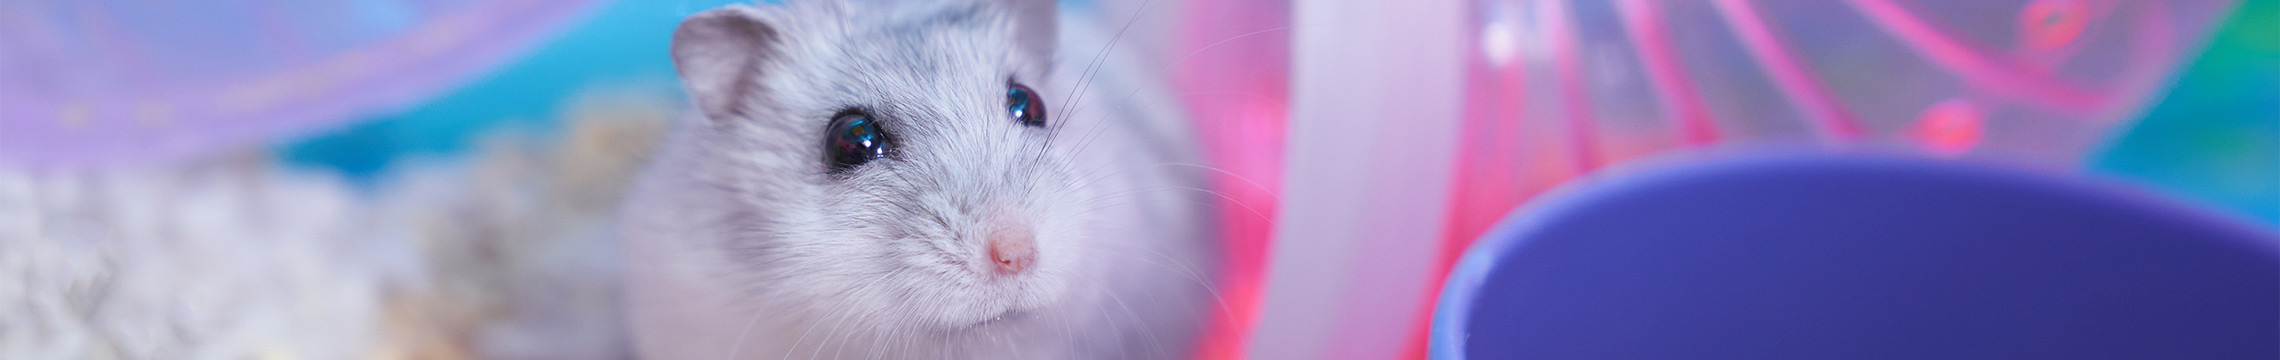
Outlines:
[[2280,358],[2280,239],[1965,162],[1651,169],[1509,214],[1432,358]]

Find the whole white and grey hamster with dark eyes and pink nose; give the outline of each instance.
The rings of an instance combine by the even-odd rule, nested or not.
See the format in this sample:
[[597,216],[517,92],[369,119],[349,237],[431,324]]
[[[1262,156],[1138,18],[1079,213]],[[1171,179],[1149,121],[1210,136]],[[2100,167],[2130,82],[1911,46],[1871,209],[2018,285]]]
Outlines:
[[1215,198],[1151,68],[1051,0],[787,2],[673,34],[693,109],[620,214],[641,358],[1195,353]]

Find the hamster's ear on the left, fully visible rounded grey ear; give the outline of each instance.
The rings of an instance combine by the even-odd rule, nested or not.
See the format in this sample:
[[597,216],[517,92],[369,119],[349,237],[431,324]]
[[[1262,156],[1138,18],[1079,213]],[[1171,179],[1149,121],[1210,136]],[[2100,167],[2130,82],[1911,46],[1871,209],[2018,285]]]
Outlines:
[[673,68],[682,87],[711,118],[743,114],[759,91],[762,64],[777,57],[780,36],[759,9],[709,9],[673,30]]

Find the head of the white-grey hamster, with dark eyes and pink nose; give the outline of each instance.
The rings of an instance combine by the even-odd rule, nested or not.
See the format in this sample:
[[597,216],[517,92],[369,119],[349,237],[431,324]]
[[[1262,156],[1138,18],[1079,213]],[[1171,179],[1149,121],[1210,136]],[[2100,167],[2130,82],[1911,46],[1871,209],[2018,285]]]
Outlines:
[[[1090,271],[1081,173],[1044,91],[1051,0],[791,2],[691,16],[691,173],[732,203],[720,287],[823,321],[1033,319]],[[857,317],[862,314],[862,317]],[[891,317],[885,317],[891,314]]]

